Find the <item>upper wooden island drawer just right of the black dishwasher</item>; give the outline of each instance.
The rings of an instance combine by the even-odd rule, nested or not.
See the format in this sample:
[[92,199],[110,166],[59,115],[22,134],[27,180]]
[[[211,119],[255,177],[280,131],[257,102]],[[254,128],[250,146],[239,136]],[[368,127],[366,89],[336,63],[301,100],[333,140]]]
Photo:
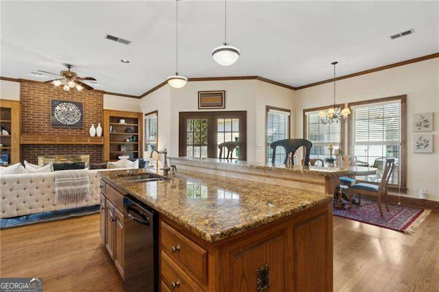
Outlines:
[[207,284],[207,251],[186,236],[162,223],[162,250],[189,275]]

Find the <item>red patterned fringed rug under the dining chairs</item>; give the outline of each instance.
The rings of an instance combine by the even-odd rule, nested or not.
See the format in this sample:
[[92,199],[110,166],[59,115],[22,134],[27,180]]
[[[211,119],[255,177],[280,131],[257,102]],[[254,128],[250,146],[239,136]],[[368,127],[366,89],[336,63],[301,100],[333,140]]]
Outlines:
[[431,210],[411,206],[389,204],[390,212],[387,212],[385,205],[383,205],[383,217],[381,217],[377,201],[361,199],[361,204],[353,204],[351,208],[348,208],[348,204],[348,202],[344,202],[344,207],[339,209],[336,208],[337,204],[335,202],[333,205],[333,215],[407,234],[414,232],[431,212]]

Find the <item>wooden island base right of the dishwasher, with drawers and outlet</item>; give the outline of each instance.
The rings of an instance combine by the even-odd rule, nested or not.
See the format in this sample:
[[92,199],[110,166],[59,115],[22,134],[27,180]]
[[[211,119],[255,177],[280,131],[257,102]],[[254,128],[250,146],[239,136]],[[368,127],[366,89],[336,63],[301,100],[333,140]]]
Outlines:
[[332,202],[214,244],[164,216],[160,226],[162,291],[333,289]]

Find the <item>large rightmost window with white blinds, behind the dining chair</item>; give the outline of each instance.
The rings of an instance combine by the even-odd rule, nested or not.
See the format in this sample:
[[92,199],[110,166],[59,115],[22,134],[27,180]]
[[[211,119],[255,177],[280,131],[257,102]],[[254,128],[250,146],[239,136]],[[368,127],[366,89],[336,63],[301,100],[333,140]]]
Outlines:
[[377,167],[377,175],[364,180],[379,182],[386,158],[394,158],[389,184],[405,188],[405,95],[351,103],[349,155]]

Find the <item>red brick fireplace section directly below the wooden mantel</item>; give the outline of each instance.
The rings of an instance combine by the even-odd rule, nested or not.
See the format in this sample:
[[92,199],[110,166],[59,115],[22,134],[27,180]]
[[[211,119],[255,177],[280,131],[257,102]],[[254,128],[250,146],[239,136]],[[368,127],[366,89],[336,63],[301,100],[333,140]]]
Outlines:
[[102,162],[102,145],[22,145],[21,160],[37,164],[38,156],[88,154],[90,163]]

